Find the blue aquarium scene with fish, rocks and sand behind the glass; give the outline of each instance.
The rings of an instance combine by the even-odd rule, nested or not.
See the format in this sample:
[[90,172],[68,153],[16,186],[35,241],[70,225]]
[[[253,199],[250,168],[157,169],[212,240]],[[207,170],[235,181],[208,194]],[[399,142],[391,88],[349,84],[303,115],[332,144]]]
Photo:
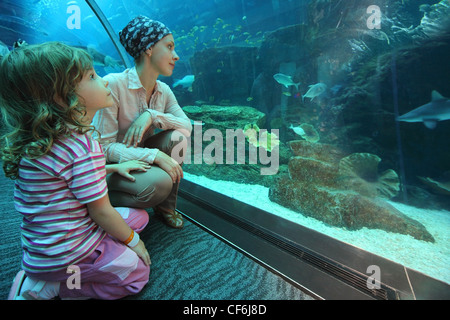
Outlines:
[[174,36],[185,179],[450,283],[450,0],[3,0],[0,54],[122,72],[137,15]]

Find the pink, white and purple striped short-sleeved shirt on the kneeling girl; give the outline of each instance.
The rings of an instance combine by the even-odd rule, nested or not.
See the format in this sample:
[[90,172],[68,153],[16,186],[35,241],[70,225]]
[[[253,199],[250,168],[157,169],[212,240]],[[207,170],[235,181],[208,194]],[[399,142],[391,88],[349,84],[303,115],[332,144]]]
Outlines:
[[89,134],[72,132],[38,159],[22,158],[14,204],[23,215],[22,267],[49,272],[84,259],[106,233],[86,204],[108,192],[105,157]]

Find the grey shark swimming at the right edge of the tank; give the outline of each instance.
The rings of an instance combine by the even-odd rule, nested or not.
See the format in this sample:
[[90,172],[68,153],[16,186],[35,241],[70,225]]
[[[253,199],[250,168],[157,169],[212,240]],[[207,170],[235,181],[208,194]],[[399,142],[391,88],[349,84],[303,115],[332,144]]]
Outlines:
[[450,120],[450,100],[433,90],[430,102],[397,117],[396,120],[423,122],[428,129],[434,129],[438,121]]

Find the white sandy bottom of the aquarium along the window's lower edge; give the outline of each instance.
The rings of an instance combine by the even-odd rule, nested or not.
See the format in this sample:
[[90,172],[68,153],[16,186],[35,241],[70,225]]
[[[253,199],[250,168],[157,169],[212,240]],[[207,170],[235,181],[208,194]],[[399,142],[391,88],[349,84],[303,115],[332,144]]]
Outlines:
[[409,235],[378,229],[362,228],[349,231],[326,225],[322,221],[270,201],[269,188],[261,185],[212,180],[187,172],[184,173],[184,178],[450,284],[449,211],[420,209],[389,201],[399,211],[426,227],[436,240],[435,243],[430,243],[416,240]]

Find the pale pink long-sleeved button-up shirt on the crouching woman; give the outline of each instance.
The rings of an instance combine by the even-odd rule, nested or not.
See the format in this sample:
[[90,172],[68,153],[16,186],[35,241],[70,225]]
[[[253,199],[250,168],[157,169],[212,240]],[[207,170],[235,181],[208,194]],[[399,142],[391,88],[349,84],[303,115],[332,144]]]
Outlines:
[[92,125],[100,132],[98,139],[102,144],[108,162],[120,163],[128,160],[143,160],[153,163],[158,149],[142,147],[128,148],[122,143],[128,128],[143,113],[151,114],[152,125],[144,139],[154,134],[155,129],[179,130],[186,136],[192,131],[190,119],[178,105],[170,87],[156,81],[155,92],[147,104],[146,90],[141,84],[136,67],[121,73],[112,73],[104,77],[109,82],[114,105],[98,111]]

